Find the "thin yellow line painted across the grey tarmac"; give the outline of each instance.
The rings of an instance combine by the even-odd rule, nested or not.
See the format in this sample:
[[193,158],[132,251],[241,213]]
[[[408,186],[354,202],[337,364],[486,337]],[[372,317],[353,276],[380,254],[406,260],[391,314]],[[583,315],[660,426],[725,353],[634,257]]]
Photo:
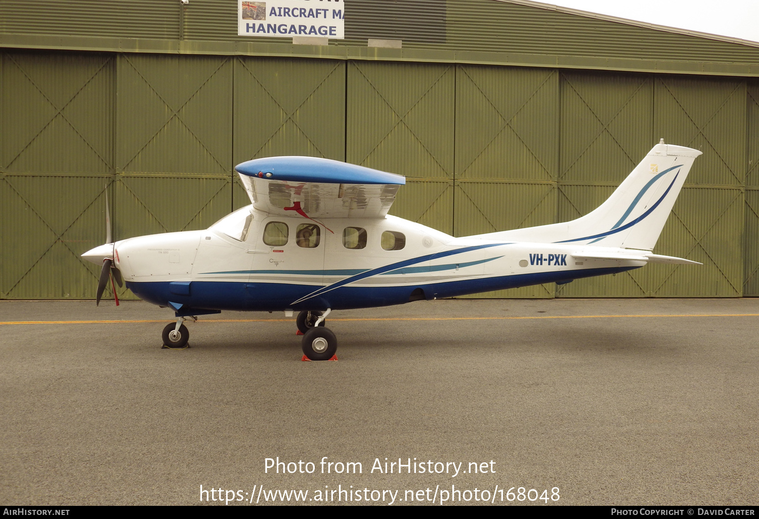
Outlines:
[[[609,317],[759,317],[759,313],[646,313],[609,316],[503,316],[503,317],[350,317],[329,321],[477,321],[506,319],[605,319]],[[294,319],[203,319],[199,322],[292,322]],[[126,324],[134,322],[173,322],[174,319],[119,319],[99,321],[5,321],[0,325],[36,324]]]

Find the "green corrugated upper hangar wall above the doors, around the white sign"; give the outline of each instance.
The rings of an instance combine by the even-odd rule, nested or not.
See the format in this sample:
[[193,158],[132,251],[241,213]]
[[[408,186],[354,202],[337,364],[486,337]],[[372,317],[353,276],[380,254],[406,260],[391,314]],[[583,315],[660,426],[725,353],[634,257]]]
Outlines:
[[[529,0],[320,2],[345,6],[345,39],[312,47],[292,45],[291,37],[238,36],[235,0],[67,0],[44,9],[3,0],[0,46],[759,75],[755,43]],[[402,39],[403,48],[367,48],[369,38]]]

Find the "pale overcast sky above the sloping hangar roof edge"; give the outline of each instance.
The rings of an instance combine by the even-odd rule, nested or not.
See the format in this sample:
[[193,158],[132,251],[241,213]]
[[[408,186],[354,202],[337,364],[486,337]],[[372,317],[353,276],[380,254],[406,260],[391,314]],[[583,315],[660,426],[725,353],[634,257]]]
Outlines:
[[759,42],[759,0],[545,0],[543,3]]

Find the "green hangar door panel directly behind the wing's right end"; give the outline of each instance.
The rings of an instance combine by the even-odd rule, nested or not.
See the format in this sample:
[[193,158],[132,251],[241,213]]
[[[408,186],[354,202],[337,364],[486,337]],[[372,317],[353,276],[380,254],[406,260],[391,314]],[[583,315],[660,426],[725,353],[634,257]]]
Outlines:
[[346,161],[406,175],[391,214],[450,233],[452,65],[348,62]]

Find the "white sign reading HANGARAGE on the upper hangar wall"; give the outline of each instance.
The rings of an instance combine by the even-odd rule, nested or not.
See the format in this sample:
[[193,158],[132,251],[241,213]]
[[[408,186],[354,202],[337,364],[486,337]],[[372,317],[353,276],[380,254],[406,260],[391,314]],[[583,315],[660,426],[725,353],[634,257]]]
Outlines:
[[345,39],[345,2],[340,0],[238,0],[239,36],[316,36]]

